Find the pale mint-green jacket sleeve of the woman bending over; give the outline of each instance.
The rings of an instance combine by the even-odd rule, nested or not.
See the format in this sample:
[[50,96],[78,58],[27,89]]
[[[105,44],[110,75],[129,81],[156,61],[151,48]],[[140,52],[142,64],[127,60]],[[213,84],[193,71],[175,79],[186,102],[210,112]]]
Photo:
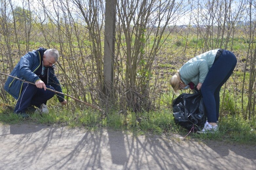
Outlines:
[[187,80],[191,80],[199,75],[199,83],[204,83],[208,71],[209,68],[207,61],[204,59],[199,59],[193,62],[187,62],[183,68],[181,68],[180,73]]

